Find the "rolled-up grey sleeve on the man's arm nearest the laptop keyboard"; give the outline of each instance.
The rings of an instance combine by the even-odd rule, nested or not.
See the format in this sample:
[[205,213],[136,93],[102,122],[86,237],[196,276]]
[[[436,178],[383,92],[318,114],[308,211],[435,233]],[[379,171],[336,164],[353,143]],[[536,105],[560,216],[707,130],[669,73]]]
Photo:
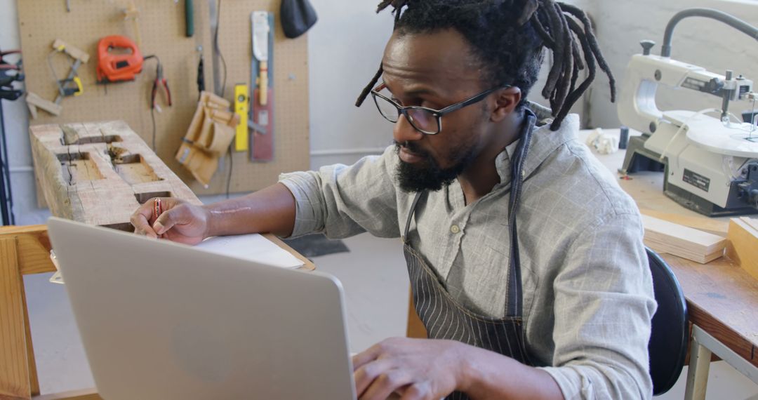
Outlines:
[[656,310],[637,214],[596,221],[553,283],[553,367],[566,399],[651,398],[647,343]]

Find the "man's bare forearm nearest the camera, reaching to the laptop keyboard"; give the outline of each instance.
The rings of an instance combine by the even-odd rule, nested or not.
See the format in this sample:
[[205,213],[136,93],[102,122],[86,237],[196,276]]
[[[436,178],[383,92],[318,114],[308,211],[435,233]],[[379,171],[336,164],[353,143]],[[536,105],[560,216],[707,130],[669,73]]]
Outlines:
[[549,373],[512,358],[465,345],[462,389],[470,398],[544,398],[562,400]]

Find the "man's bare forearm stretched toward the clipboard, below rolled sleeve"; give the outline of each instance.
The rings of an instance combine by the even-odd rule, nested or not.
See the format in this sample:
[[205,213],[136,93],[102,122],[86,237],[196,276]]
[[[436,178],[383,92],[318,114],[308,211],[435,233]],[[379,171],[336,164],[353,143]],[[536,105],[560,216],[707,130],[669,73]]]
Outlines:
[[281,183],[203,207],[210,214],[208,236],[242,233],[290,236],[295,226],[295,198]]

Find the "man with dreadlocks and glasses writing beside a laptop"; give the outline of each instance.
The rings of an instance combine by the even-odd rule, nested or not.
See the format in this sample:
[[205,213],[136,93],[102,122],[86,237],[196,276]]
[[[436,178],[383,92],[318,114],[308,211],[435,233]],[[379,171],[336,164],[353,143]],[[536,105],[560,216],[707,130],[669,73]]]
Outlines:
[[[362,399],[650,398],[656,303],[641,219],[568,115],[596,64],[614,86],[587,16],[553,0],[379,11],[390,5],[395,29],[359,104],[371,94],[396,145],[214,205],[166,198],[158,220],[148,202],[136,232],[401,237],[430,339],[356,355]],[[526,98],[543,48],[552,122],[540,126]]]

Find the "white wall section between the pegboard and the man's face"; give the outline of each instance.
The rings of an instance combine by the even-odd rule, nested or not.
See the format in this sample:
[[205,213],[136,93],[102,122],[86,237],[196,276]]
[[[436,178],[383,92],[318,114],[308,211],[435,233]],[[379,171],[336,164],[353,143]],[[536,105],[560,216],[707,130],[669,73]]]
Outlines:
[[393,15],[375,14],[377,3],[312,0],[318,13],[308,37],[313,168],[349,164],[392,142],[392,125],[371,96],[361,108],[354,105],[392,34]]

